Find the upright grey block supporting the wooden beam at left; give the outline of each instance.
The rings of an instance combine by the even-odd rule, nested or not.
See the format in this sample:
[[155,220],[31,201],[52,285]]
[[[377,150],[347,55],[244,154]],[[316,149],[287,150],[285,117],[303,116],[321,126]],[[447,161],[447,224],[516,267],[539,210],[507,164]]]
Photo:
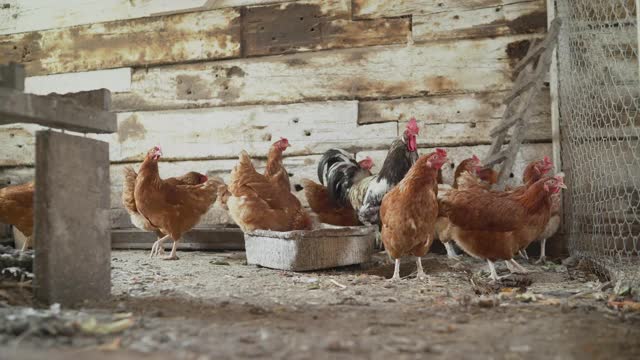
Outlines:
[[111,293],[109,144],[36,133],[36,300],[72,306]]

